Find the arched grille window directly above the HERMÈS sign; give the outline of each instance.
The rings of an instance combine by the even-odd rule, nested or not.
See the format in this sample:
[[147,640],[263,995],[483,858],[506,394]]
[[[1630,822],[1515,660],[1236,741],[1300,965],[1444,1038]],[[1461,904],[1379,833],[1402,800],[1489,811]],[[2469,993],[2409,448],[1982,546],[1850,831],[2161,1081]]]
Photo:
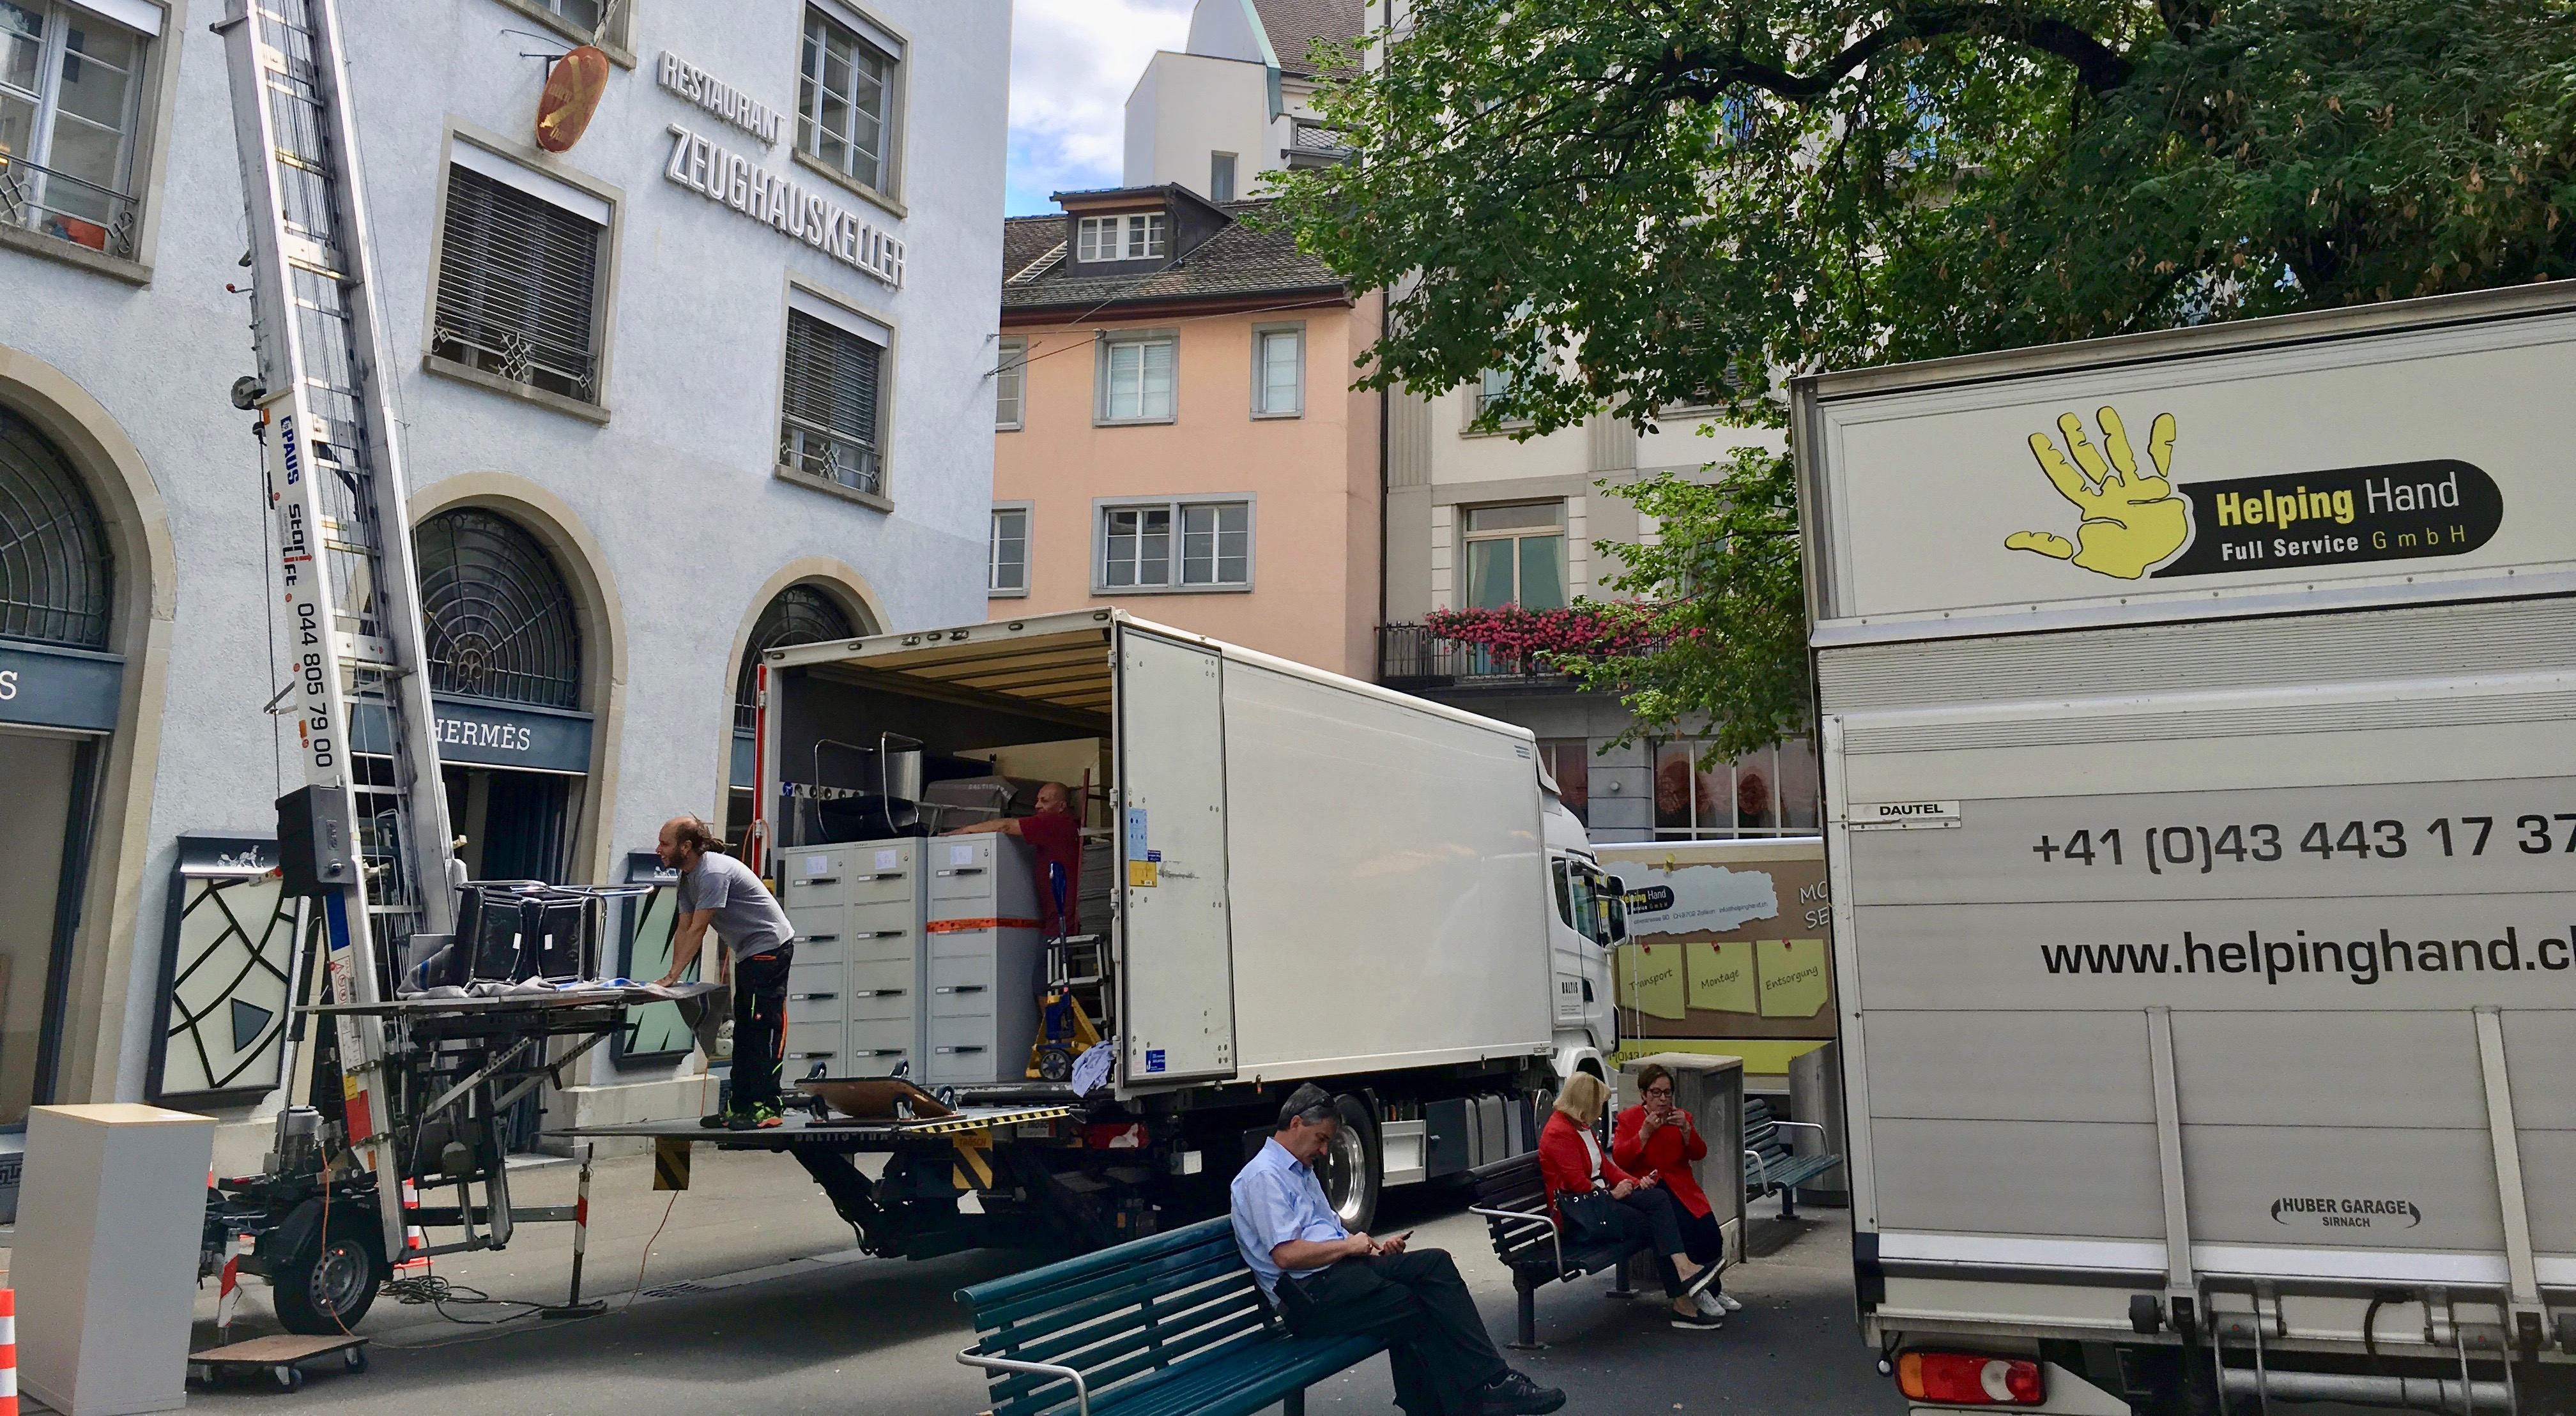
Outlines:
[[430,693],[582,705],[582,620],[564,572],[518,523],[459,507],[420,523]]

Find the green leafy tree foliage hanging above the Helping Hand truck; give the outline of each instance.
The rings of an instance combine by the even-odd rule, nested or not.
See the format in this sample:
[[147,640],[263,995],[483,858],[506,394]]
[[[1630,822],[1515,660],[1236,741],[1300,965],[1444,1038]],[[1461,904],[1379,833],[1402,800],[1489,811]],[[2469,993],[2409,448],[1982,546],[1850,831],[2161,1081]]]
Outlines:
[[[1412,0],[1409,21],[1321,98],[1363,160],[1280,175],[1273,219],[1388,291],[1363,386],[1504,368],[1489,422],[1515,435],[1682,402],[1777,427],[1801,371],[2576,275],[2576,0]],[[1749,543],[1692,569],[1716,618],[1636,662],[1631,703],[1798,729],[1793,572]]]

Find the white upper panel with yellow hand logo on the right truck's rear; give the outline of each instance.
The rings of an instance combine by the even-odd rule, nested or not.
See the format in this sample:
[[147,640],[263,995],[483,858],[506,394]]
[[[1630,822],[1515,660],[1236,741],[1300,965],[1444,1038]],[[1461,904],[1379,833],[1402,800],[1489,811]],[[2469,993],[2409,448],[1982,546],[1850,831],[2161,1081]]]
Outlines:
[[2532,409],[2571,384],[2555,314],[1824,396],[1819,631],[2548,592],[2576,481]]

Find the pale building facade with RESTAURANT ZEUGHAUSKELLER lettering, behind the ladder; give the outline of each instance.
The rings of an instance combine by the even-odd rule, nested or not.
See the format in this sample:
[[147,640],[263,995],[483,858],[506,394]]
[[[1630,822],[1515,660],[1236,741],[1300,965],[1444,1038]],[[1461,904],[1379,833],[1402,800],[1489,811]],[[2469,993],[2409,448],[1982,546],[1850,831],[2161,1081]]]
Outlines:
[[[222,10],[0,3],[0,1130],[281,1099],[286,953],[245,878],[294,757],[227,396],[252,350]],[[750,649],[984,613],[1010,5],[340,13],[464,857],[641,878],[662,819],[747,806]],[[574,44],[605,98],[544,152]],[[659,973],[629,932],[603,963]],[[696,1112],[696,1071],[647,1020],[546,1123]]]

